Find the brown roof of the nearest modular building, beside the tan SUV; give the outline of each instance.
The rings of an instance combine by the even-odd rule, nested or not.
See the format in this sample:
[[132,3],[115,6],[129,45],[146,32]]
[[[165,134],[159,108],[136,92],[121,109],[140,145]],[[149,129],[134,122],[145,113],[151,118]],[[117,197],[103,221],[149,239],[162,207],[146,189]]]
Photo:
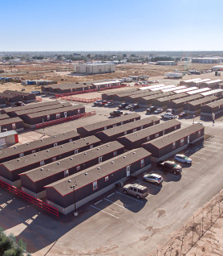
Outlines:
[[[137,148],[132,151],[128,151],[122,155],[118,155],[113,159],[109,159],[103,163],[95,165],[95,167],[87,168],[84,171],[79,171],[74,175],[70,175],[63,180],[56,181],[55,183],[45,186],[45,188],[55,188],[62,196],[67,195],[68,193],[73,192],[71,184],[75,183],[77,180],[75,190],[91,184],[95,180],[99,180],[107,175],[112,174],[112,172],[118,171],[123,167],[126,167],[140,159],[151,155],[144,148]],[[87,175],[85,175],[87,173]],[[68,184],[68,180],[71,180],[71,183]]]

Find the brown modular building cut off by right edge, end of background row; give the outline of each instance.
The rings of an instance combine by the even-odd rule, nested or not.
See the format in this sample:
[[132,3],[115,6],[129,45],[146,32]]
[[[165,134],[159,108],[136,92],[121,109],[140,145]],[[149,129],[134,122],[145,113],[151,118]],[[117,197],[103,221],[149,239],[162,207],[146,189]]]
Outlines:
[[213,118],[213,114],[218,118],[223,113],[223,99],[201,106],[201,117]]

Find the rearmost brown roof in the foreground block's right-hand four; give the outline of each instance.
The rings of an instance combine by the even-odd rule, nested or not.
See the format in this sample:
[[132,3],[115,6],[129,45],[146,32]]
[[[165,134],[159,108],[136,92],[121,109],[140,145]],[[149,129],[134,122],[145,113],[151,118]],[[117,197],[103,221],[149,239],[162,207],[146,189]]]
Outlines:
[[140,114],[136,114],[136,113],[126,114],[126,115],[120,116],[118,118],[107,119],[103,122],[95,122],[91,125],[83,126],[83,128],[87,131],[98,130],[98,129],[106,127],[106,126],[112,126],[113,124],[116,124],[117,122],[125,122],[129,119],[139,118],[139,117],[140,117]]

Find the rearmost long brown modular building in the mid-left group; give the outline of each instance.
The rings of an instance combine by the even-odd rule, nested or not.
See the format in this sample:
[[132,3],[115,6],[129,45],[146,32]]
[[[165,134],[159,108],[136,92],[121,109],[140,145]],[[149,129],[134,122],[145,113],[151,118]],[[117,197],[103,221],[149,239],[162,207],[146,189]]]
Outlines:
[[41,103],[34,103],[34,104],[28,104],[28,105],[21,105],[16,108],[6,108],[1,110],[1,114],[8,114],[11,118],[14,118],[14,112],[25,110],[25,109],[35,109],[40,108],[47,105],[55,105],[55,104],[61,104],[59,101],[48,101],[48,102],[41,102]]

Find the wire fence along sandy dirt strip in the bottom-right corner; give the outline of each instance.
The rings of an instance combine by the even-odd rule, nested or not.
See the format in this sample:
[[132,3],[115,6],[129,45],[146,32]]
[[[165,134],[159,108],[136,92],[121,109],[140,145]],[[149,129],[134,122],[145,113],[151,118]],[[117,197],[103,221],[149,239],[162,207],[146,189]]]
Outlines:
[[183,225],[152,256],[184,256],[223,213],[223,189]]

